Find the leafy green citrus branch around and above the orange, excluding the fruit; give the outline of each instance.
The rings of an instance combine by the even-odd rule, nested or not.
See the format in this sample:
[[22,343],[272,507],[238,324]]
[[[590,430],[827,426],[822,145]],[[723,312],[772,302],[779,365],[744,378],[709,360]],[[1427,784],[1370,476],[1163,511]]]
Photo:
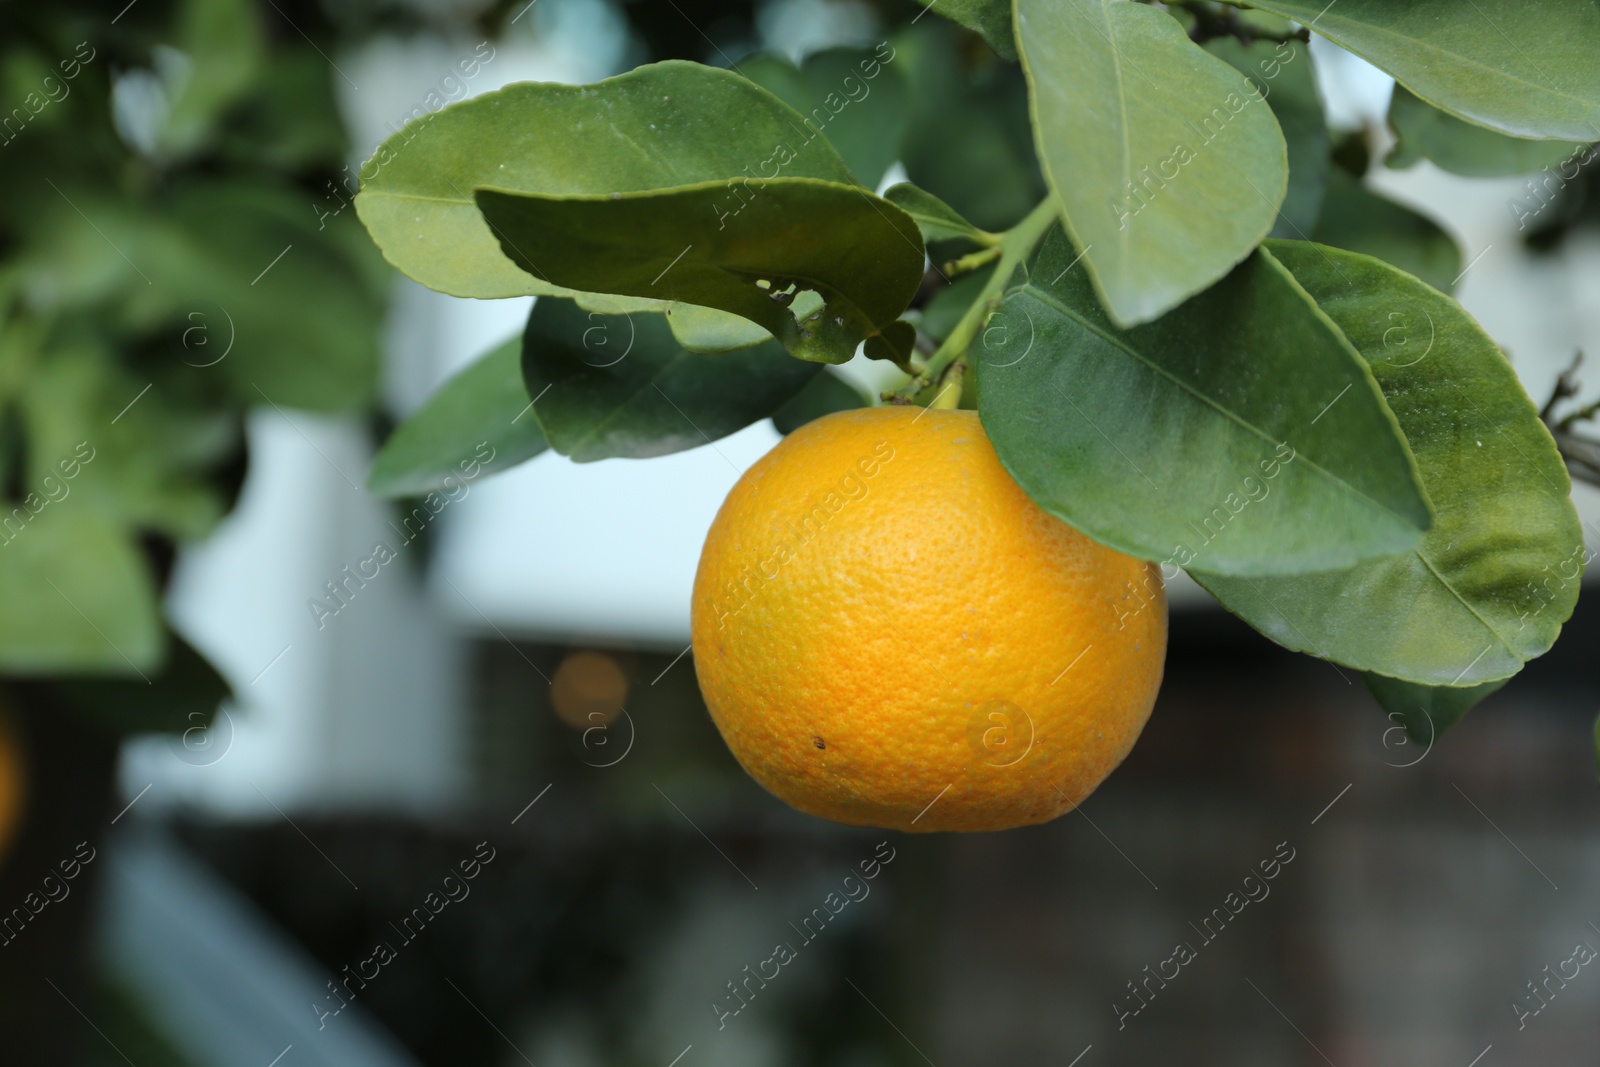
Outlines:
[[1550,648],[1589,558],[1562,450],[1450,296],[1458,248],[1330,134],[1309,40],[1398,82],[1389,166],[1536,173],[1526,227],[1595,157],[1600,8],[907,14],[800,66],[510,85],[390,138],[355,200],[384,256],[539,299],[370,486],[440,488],[485,442],[499,469],[789,432],[872,403],[832,370],[864,352],[902,373],[883,402],[976,410],[1040,509],[1360,672],[1421,741]]

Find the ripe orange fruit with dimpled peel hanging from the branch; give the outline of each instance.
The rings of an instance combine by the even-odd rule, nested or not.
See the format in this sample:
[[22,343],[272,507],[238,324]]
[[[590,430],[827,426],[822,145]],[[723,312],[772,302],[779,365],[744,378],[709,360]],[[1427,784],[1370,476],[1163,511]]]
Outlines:
[[706,537],[694,670],[746,771],[800,811],[1000,830],[1088,797],[1166,654],[1158,568],[1046,514],[978,414],[810,422]]

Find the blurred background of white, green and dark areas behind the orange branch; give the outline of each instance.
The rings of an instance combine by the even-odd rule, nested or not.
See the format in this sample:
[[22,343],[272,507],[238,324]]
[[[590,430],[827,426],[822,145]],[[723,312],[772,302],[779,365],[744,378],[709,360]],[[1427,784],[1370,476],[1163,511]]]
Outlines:
[[[1014,67],[920,11],[0,3],[3,491],[75,456],[83,504],[46,486],[0,566],[0,608],[29,605],[0,611],[24,768],[0,1061],[1595,1062],[1587,598],[1421,747],[1354,673],[1174,584],[1123,769],[1050,825],[923,838],[787,809],[699,702],[699,544],[770,422],[651,461],[546,453],[349,577],[411,510],[362,490],[376,445],[530,307],[376,256],[349,202],[382,139],[509,82],[882,40],[923,58],[888,67],[912,94],[931,77],[1022,106]],[[1392,82],[1314,56],[1368,186],[1440,227],[1459,298],[1542,405],[1600,350],[1594,171],[1520,227],[1528,179],[1386,168]],[[952,162],[941,138],[979,120],[944,99],[912,109],[882,184],[1014,221],[1038,195],[1026,141],[979,128],[992,149]],[[1600,493],[1576,494],[1600,549]],[[78,597],[125,624],[85,630]],[[32,635],[77,651],[42,659]],[[154,678],[77,678],[163,645]],[[758,977],[779,944],[794,958]]]

